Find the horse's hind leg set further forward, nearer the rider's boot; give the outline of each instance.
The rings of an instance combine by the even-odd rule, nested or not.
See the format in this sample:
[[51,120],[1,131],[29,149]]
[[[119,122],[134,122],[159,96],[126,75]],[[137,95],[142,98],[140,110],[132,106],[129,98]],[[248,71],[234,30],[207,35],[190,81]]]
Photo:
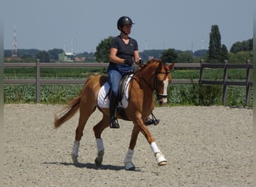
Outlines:
[[109,126],[109,116],[106,116],[106,114],[103,114],[103,119],[100,120],[100,122],[97,123],[96,126],[94,126],[94,135],[97,143],[97,157],[95,159],[95,164],[97,165],[97,167],[100,167],[100,165],[103,163],[103,156],[104,156],[104,144],[103,144],[103,139],[101,138],[101,133],[108,126]]

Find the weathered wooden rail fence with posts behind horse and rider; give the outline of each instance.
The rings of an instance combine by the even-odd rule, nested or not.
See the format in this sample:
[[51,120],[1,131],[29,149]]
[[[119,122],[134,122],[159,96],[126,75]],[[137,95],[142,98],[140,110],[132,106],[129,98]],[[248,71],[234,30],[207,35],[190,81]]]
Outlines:
[[[11,67],[35,67],[36,79],[4,79],[4,84],[35,84],[36,85],[36,102],[40,102],[40,84],[84,84],[85,79],[40,79],[41,67],[108,67],[106,63],[40,63],[39,60],[36,63],[4,63],[4,68]],[[228,85],[246,86],[246,106],[249,106],[249,91],[252,87],[251,70],[253,65],[251,61],[247,61],[246,64],[228,64],[225,61],[224,64],[207,64],[204,61],[200,63],[176,63],[174,68],[179,69],[198,69],[200,70],[199,79],[173,79],[171,84],[205,84],[205,85],[223,85],[222,103],[226,105]],[[204,69],[205,68],[221,68],[223,69],[223,79],[219,81],[205,80]],[[228,69],[246,69],[246,80],[242,81],[228,81]]]

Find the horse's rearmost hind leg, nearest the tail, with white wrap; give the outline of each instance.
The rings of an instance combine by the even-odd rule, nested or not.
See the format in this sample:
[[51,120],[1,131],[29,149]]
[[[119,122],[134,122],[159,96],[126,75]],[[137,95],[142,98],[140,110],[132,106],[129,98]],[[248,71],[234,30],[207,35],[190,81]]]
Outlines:
[[88,118],[91,116],[91,114],[94,112],[96,107],[90,107],[88,105],[80,105],[80,110],[79,110],[79,124],[76,127],[76,138],[73,144],[73,150],[71,153],[71,157],[73,159],[73,163],[77,164],[78,160],[78,152],[79,152],[79,145],[80,145],[80,140],[83,135],[83,131],[85,129],[85,124],[88,120]]

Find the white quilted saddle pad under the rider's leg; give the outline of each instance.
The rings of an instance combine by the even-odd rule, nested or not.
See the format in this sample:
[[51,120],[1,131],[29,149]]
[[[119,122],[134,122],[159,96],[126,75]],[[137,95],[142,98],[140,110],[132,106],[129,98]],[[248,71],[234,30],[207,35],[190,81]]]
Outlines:
[[[118,107],[122,107],[122,108],[127,108],[128,106],[128,98],[129,98],[129,93],[128,93],[128,88],[129,88],[129,81],[130,79],[132,79],[133,75],[130,75],[127,79],[127,82],[125,83],[125,87],[124,87],[124,96],[121,100],[121,102],[118,102]],[[98,105],[100,106],[100,108],[109,108],[109,96],[106,96],[106,94],[109,92],[109,83],[106,82],[99,91],[98,94]]]

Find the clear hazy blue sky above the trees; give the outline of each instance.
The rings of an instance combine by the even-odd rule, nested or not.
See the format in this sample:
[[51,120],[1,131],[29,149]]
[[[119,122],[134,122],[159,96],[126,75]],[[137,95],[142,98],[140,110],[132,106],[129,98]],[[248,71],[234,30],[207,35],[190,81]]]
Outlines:
[[255,0],[1,0],[4,49],[65,49],[95,52],[117,21],[129,16],[129,35],[138,49],[208,49],[212,25],[218,25],[228,50],[253,37]]

